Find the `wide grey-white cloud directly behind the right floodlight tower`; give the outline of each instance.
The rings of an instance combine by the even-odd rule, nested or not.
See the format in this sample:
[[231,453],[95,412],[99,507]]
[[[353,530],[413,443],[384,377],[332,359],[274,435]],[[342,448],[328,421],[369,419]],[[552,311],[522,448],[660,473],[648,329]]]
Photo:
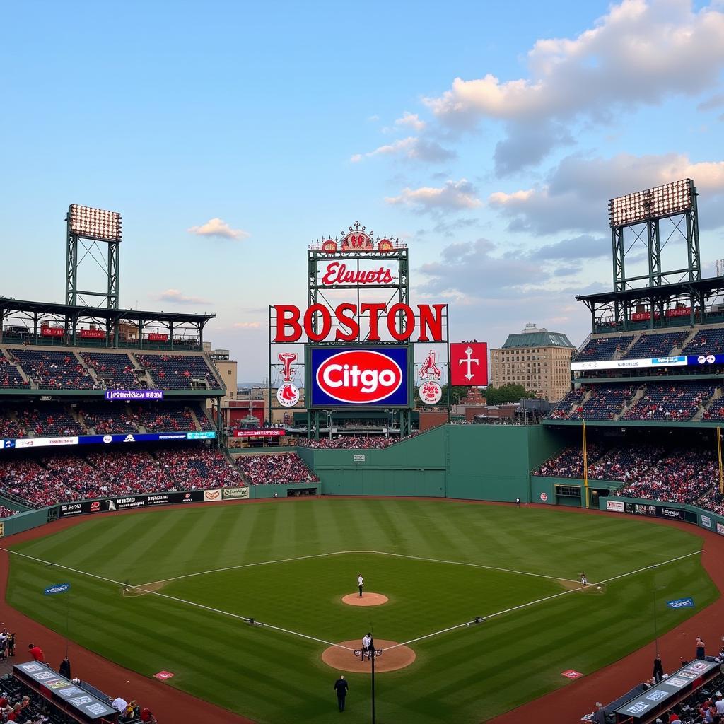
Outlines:
[[510,219],[513,231],[552,234],[566,230],[602,231],[608,224],[608,201],[615,196],[691,178],[699,191],[702,227],[724,223],[724,161],[691,161],[689,156],[633,156],[610,159],[568,156],[547,181],[513,193],[498,191],[489,206]]

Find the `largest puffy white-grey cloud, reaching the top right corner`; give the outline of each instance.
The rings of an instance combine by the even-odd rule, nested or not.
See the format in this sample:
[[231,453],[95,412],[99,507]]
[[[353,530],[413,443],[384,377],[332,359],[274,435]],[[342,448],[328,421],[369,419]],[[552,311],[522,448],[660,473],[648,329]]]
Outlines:
[[576,38],[536,41],[527,60],[528,77],[458,77],[424,101],[452,129],[505,122],[508,139],[495,159],[501,174],[569,143],[565,125],[573,121],[608,122],[621,109],[712,88],[724,67],[724,13],[713,5],[694,11],[691,0],[623,0]]

